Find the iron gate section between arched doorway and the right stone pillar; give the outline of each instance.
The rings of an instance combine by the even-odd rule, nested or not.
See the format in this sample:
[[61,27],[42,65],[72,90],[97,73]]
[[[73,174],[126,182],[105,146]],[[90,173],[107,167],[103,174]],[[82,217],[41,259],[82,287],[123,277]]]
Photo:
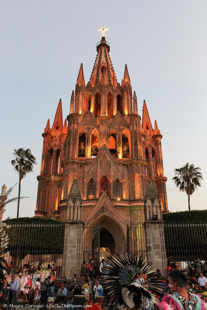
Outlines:
[[127,251],[132,255],[146,257],[145,227],[142,222],[136,221],[133,226],[127,224]]

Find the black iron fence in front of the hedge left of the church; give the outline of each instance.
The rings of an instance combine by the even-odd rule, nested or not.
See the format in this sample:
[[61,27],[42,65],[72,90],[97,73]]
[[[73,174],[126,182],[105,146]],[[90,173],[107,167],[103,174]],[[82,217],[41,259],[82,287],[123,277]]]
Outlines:
[[[54,264],[56,278],[61,278],[62,254],[64,245],[64,224],[47,223],[9,223],[9,244],[7,253],[2,257],[7,263],[13,263],[13,268],[25,272],[27,268],[37,270]],[[15,271],[15,270],[14,270]]]

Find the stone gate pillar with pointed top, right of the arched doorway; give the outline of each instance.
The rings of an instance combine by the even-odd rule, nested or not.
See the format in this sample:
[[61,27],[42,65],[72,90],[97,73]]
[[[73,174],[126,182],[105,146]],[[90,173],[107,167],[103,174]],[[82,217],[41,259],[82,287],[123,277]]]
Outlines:
[[153,180],[149,180],[144,200],[146,252],[148,263],[167,275],[167,257],[164,240],[164,221],[162,219],[159,195]]

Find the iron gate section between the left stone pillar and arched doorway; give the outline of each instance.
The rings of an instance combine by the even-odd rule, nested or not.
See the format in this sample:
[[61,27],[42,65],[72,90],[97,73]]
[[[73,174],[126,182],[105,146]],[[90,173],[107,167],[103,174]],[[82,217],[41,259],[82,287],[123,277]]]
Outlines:
[[94,259],[94,275],[100,265],[100,229],[99,226],[83,226],[82,262],[90,263]]

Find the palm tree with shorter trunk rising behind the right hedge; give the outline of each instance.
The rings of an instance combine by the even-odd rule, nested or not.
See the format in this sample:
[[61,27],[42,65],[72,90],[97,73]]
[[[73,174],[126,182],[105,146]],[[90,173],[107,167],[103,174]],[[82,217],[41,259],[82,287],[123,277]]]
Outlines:
[[189,165],[187,162],[187,164],[183,167],[175,169],[174,173],[175,176],[172,180],[181,192],[187,193],[188,210],[190,211],[190,195],[192,195],[192,193],[194,193],[195,190],[201,186],[201,180],[203,180],[200,168],[195,168],[193,164]]

